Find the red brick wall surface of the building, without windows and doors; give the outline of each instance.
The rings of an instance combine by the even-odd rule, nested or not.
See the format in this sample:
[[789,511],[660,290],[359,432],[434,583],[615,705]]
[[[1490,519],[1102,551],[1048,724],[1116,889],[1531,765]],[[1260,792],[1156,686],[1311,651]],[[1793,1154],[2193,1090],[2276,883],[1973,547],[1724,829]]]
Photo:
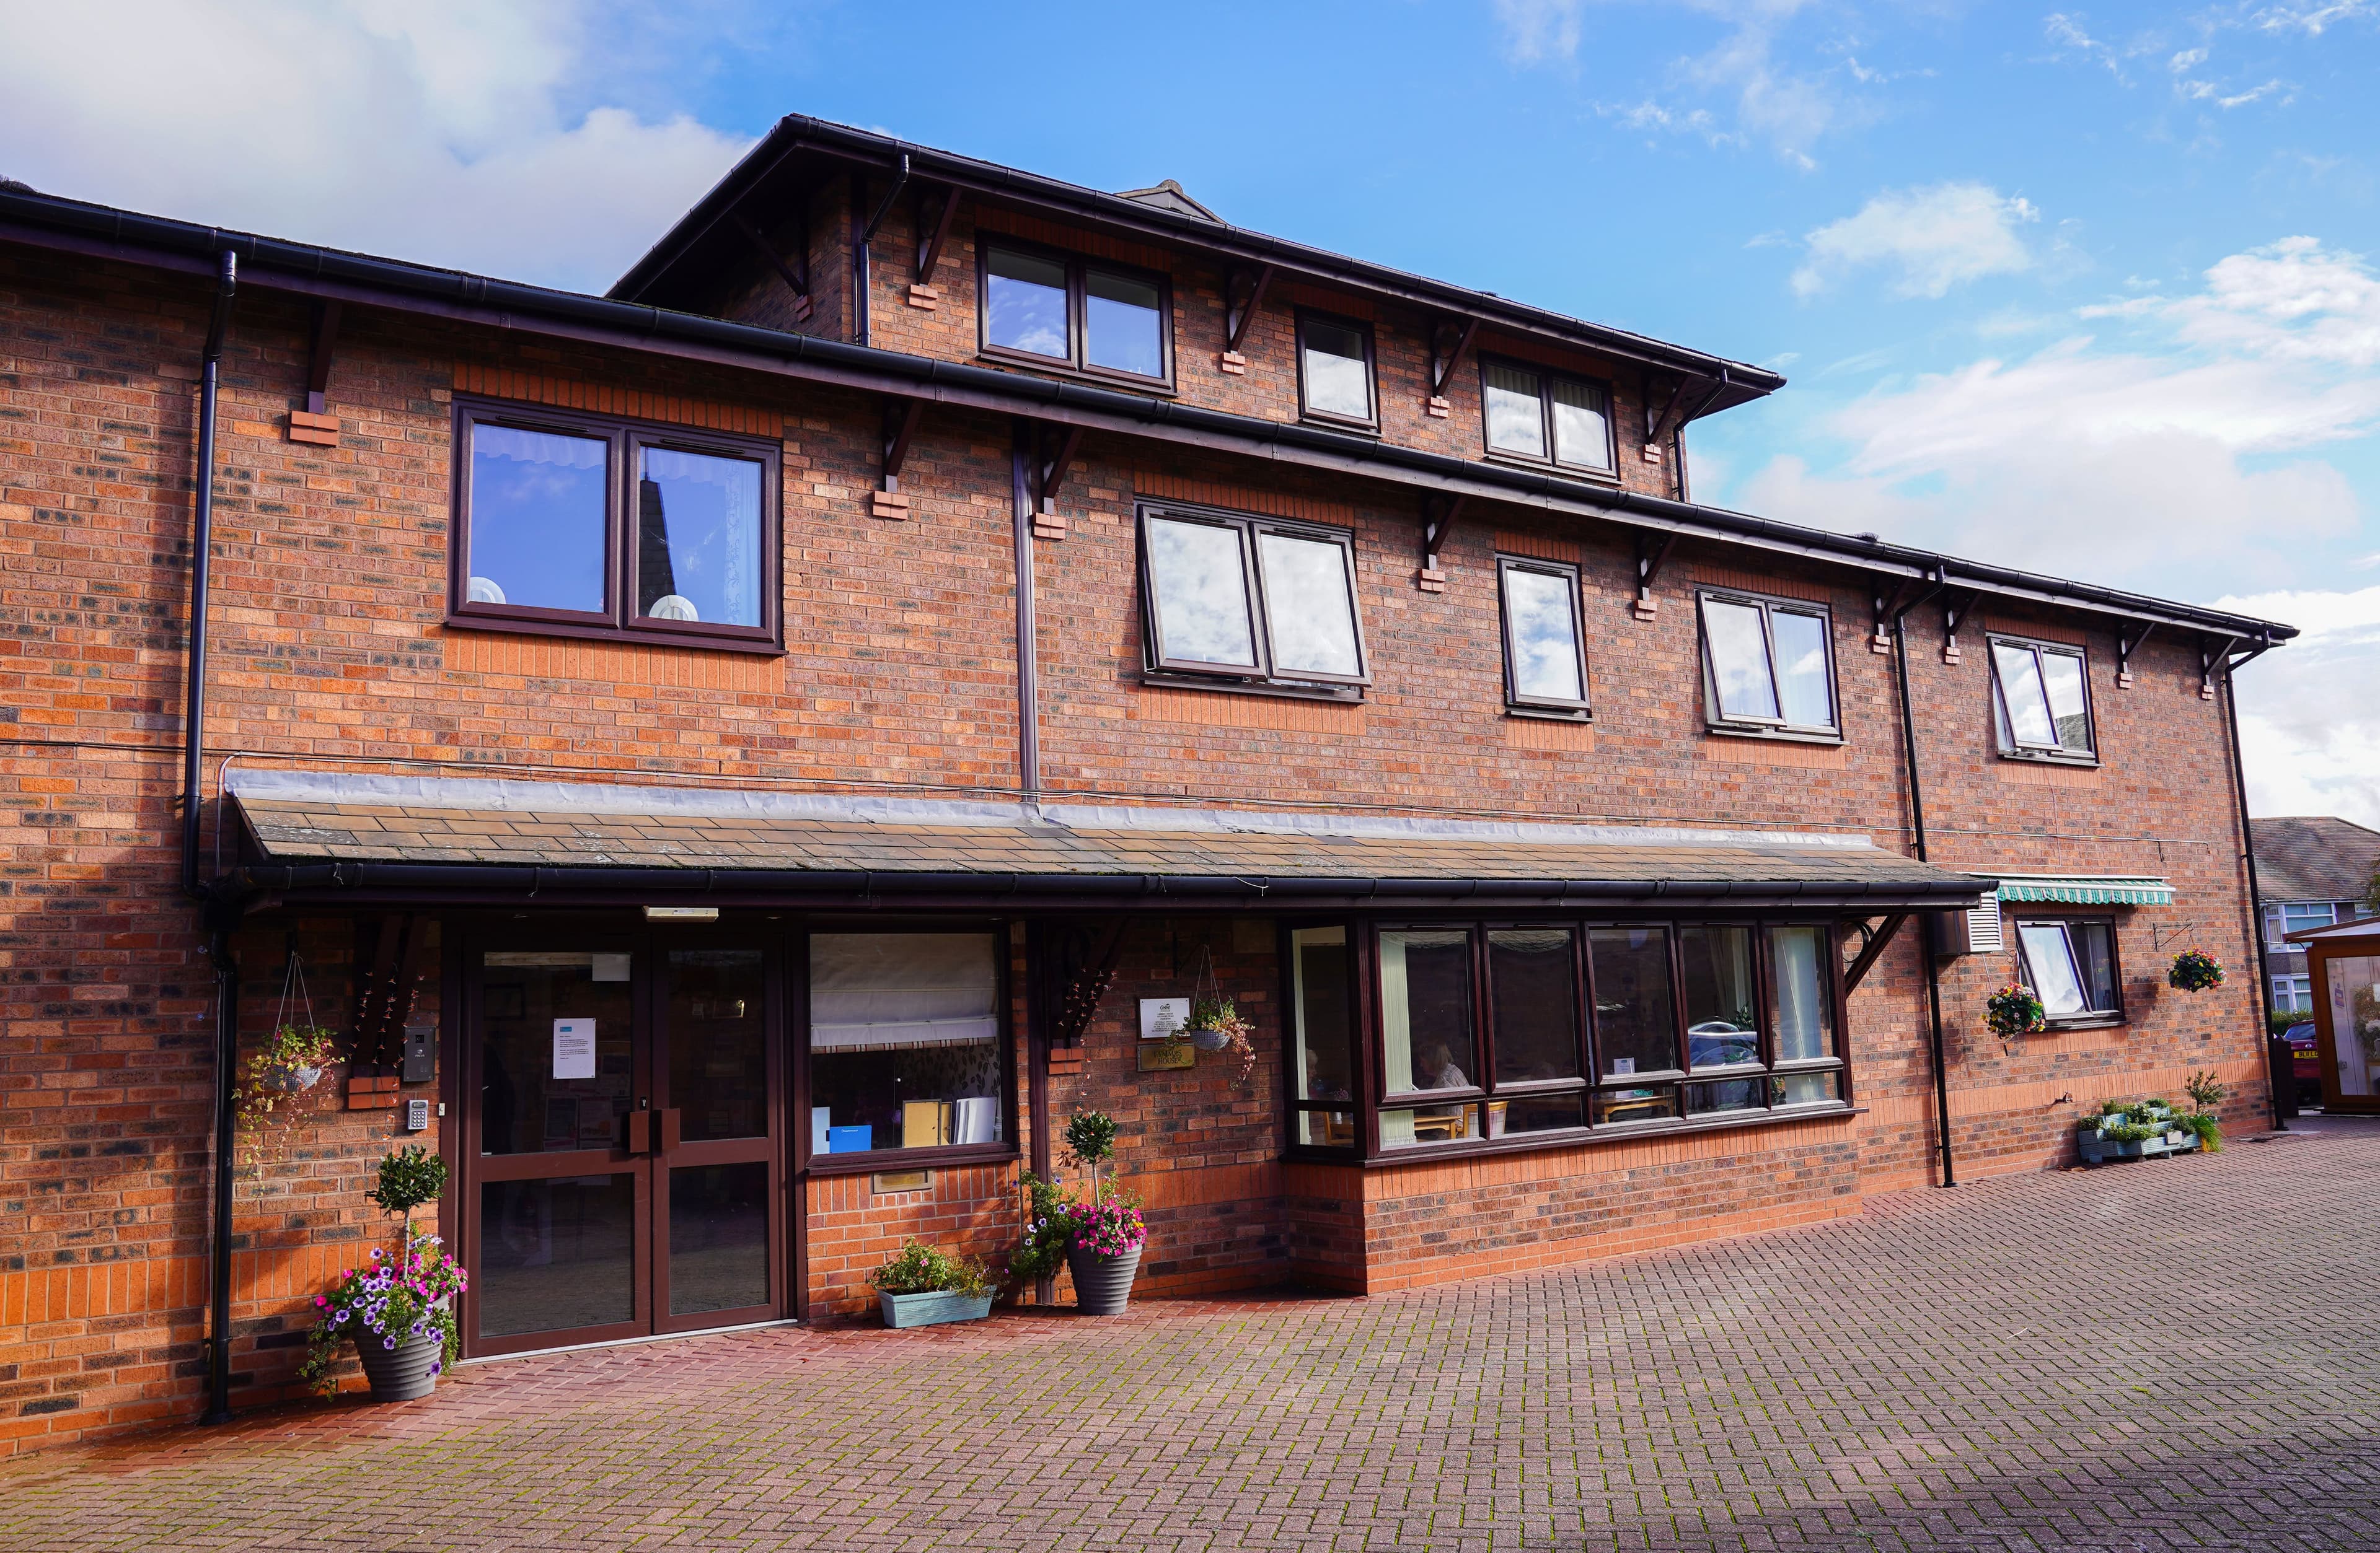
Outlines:
[[[900,221],[907,216],[881,238],[878,276],[892,273],[907,240]],[[814,240],[823,243],[826,226],[814,224]],[[959,235],[945,266],[971,264],[966,212]],[[1211,333],[1214,319],[1197,321],[1190,309],[1219,307],[1209,297],[1219,278],[1178,269],[1176,281],[1183,340]],[[971,283],[945,288],[931,316],[878,297],[876,316],[916,314],[904,319],[912,328],[942,328],[969,297]],[[174,790],[190,364],[205,316],[195,281],[0,252],[0,804],[14,818],[0,851],[5,1446],[188,1415],[198,1398],[212,975],[195,911],[174,889]],[[221,754],[240,749],[259,752],[243,756],[259,763],[412,773],[643,773],[866,792],[1014,787],[1004,419],[931,411],[902,480],[912,518],[876,521],[866,492],[881,407],[864,395],[626,352],[536,347],[357,307],[331,378],[340,445],[317,449],[283,435],[288,409],[302,404],[307,323],[302,304],[250,290],[226,354],[209,785]],[[971,321],[964,328],[971,333]],[[1411,378],[1411,357],[1407,366],[1395,359],[1416,342],[1411,321],[1383,316],[1388,371]],[[1280,340],[1264,345],[1273,347],[1285,350]],[[1188,347],[1180,361],[1185,397],[1240,407],[1278,409],[1278,383],[1266,376],[1276,371],[1257,371],[1252,354],[1245,381],[1221,378]],[[457,390],[778,435],[785,656],[447,630]],[[1476,435],[1476,402],[1459,400],[1447,423],[1421,426],[1416,392],[1404,381],[1383,395],[1392,430],[1395,416],[1414,416],[1395,435]],[[1680,545],[1656,618],[1637,621],[1628,535],[1471,504],[1445,547],[1447,592],[1421,595],[1409,492],[1119,438],[1085,438],[1083,452],[1059,495],[1069,537],[1035,547],[1042,761],[1061,794],[1778,825],[1909,844],[1892,659],[1866,649],[1868,595],[1847,571]],[[1376,671],[1366,702],[1138,685],[1135,490],[1349,523]],[[1502,716],[1497,547],[1580,561],[1592,728]],[[1697,576],[1754,576],[1835,606],[1842,749],[1702,730]],[[2018,618],[2028,616],[2011,614]],[[2102,771],[1999,761],[1983,621],[1964,633],[1968,652],[1952,666],[1940,661],[1940,618],[1911,618],[1933,854],[1949,866],[2161,875],[2175,885],[2175,906],[2118,913],[2130,1018],[2116,1030],[1997,1042],[1983,1032],[1980,999],[2006,980],[2009,961],[1947,968],[1954,1132],[1971,1172],[2059,1163],[2080,1108],[2104,1094],[2178,1094],[2192,1068],[2242,1084],[2228,1108],[2237,1127],[2254,1125],[2263,1104],[2247,977],[2197,996],[2159,980],[2163,956],[2185,944],[2247,966],[2221,704],[2199,699],[2194,647],[2173,633],[2152,637],[2135,659],[2137,683],[2116,690],[2109,625],[2071,611],[2044,621],[2080,633],[2092,652]],[[286,932],[286,923],[259,920],[240,937],[250,1032],[269,1018]],[[1457,1172],[1468,1182],[1454,1211],[1459,1239],[1488,1263],[1426,1251],[1452,1241],[1404,1230],[1447,1215],[1445,1206],[1414,1206],[1442,1196],[1442,1184],[1395,1170],[1383,1182],[1404,1187],[1359,1192],[1347,1180],[1357,1172],[1278,1163],[1271,947],[1242,944],[1221,923],[1178,932],[1183,942],[1209,932],[1226,989],[1245,996],[1266,1054],[1254,1084],[1228,1082],[1216,1058],[1185,1075],[1138,1070],[1126,1023],[1133,999],[1185,975],[1176,930],[1164,923],[1135,925],[1081,1061],[1061,1063],[1071,1073],[1052,1082],[1057,1115],[1097,1104],[1126,1123],[1126,1163],[1157,1225],[1152,1291],[1283,1272],[1385,1287],[1742,1227],[1754,1222],[1747,1213],[1835,1211],[1859,1189],[1916,1184],[1933,1170],[1925,992],[1909,935],[1852,999],[1849,1054],[1868,1108],[1856,1123],[1833,1123],[1825,1142],[1809,1146],[1787,1142],[1806,1127],[1680,1144],[1685,1153],[1661,1165],[1661,1187],[1616,1168],[1621,1156],[1604,1146],[1528,1156],[1561,1161],[1559,1180],[1549,1163]],[[338,932],[302,925],[300,944],[321,966],[317,999],[345,999]],[[236,1227],[248,1260],[236,1263],[233,1353],[252,1391],[286,1375],[281,1344],[293,1313],[369,1230],[357,1184],[388,1146],[388,1113],[331,1118],[302,1144],[302,1158],[255,1189],[243,1184]],[[821,1218],[857,1213],[847,1194],[864,1189],[864,1177],[859,1187],[816,1187]],[[1014,1196],[1000,1172],[938,1172],[933,1196],[888,1211],[852,1220],[840,1239],[840,1230],[821,1230],[814,1253],[835,1253],[833,1268],[816,1263],[826,1303],[864,1299],[854,1277],[881,1256],[892,1225],[964,1232],[990,1249],[1007,1234],[1000,1215],[1014,1213]],[[1540,1211],[1561,1225],[1609,1213],[1621,1241],[1599,1232],[1509,1239],[1497,1227],[1499,1215]],[[1364,1268],[1364,1258],[1376,1265]]]

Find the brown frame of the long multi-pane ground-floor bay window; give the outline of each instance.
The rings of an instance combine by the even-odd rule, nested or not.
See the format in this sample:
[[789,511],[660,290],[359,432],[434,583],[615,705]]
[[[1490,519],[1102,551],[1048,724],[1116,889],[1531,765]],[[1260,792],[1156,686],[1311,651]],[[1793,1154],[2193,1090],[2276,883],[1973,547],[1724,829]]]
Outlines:
[[[1302,920],[1299,925],[1335,925],[1340,918]],[[1488,935],[1497,930],[1528,928],[1528,930],[1566,930],[1571,935],[1573,956],[1573,1008],[1578,1011],[1573,1030],[1578,1030],[1580,1042],[1580,1073],[1578,1080],[1528,1080],[1528,1082],[1497,1082],[1495,1077],[1495,999],[1492,999],[1492,966],[1488,951]],[[1668,1004],[1671,1004],[1671,1058],[1673,1068],[1633,1073],[1621,1080],[1602,1073],[1602,1030],[1595,1013],[1595,956],[1590,951],[1590,935],[1595,930],[1642,930],[1654,928],[1664,935],[1664,958],[1668,966]],[[1733,1065],[1704,1065],[1695,1068],[1690,1058],[1692,1032],[1685,1023],[1685,930],[1687,928],[1745,928],[1752,935],[1752,977],[1754,994],[1759,999],[1759,1061],[1756,1063],[1733,1063]],[[1833,1035],[1833,1056],[1823,1058],[1780,1058],[1778,1056],[1778,1013],[1775,1013],[1775,949],[1771,942],[1771,930],[1775,928],[1816,928],[1821,932],[1821,956],[1823,966],[1823,996],[1828,1030]],[[1835,918],[1821,916],[1792,916],[1792,913],[1695,913],[1695,916],[1528,916],[1528,918],[1428,918],[1428,916],[1378,916],[1378,918],[1354,918],[1347,920],[1349,942],[1361,944],[1361,954],[1354,961],[1357,996],[1352,1011],[1359,1020],[1357,1027],[1357,1070],[1359,1070],[1359,1096],[1361,1113],[1357,1123],[1357,1139],[1364,1149],[1364,1163],[1368,1165],[1392,1165],[1416,1158],[1445,1158],[1464,1153],[1499,1153],[1514,1149],[1559,1149],[1578,1144],[1597,1144],[1604,1139],[1668,1134],[1668,1132],[1711,1132],[1726,1127],[1747,1125],[1783,1125],[1809,1118],[1852,1115],[1852,1063],[1849,1063],[1849,1030],[1844,1023],[1844,987],[1842,987],[1842,925]],[[1471,1061],[1476,1068],[1466,1068],[1466,1077],[1476,1075],[1468,1087],[1461,1089],[1397,1089],[1388,1087],[1388,1061],[1385,1061],[1385,1016],[1380,1008],[1380,932],[1399,930],[1423,930],[1423,932],[1466,932],[1471,944]],[[1285,1006],[1292,1006],[1285,1001]],[[1288,1032],[1295,1039],[1295,1030]],[[1285,1075],[1288,1075],[1288,1051],[1283,1051]],[[1780,1099],[1780,1080],[1809,1073],[1835,1075],[1835,1096],[1823,1101],[1795,1101],[1785,1104]],[[1735,1111],[1687,1111],[1687,1089],[1692,1084],[1718,1084],[1718,1082],[1747,1082],[1761,1084],[1766,1096],[1759,1106],[1735,1108]],[[1288,1082],[1283,1084],[1288,1087]],[[1666,1099],[1668,1115],[1652,1115],[1642,1120],[1595,1120],[1599,1101],[1614,1094],[1642,1094],[1656,1092]],[[1533,1099],[1547,1094],[1578,1094],[1583,1125],[1559,1127],[1542,1132],[1521,1134],[1488,1134],[1488,1106],[1499,1099]],[[1466,1137],[1430,1142],[1430,1144],[1404,1144],[1397,1149],[1385,1149],[1380,1142],[1380,1115],[1385,1111],[1414,1111],[1414,1108],[1468,1108]],[[1347,1108],[1347,1101],[1333,1104],[1290,1104],[1290,1115],[1295,1120],[1297,1111],[1328,1111]],[[1295,1132],[1288,1134],[1295,1139]],[[1345,1149],[1326,1149],[1314,1144],[1290,1142],[1288,1151],[1292,1156],[1311,1158],[1340,1158]]]

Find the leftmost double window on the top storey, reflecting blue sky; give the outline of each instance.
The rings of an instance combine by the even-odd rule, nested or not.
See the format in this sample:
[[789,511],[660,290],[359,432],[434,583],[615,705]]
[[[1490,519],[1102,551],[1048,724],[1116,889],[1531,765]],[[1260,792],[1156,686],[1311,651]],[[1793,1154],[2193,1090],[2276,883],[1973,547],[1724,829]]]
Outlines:
[[1145,383],[1173,381],[1161,276],[1071,254],[983,247],[983,354]]

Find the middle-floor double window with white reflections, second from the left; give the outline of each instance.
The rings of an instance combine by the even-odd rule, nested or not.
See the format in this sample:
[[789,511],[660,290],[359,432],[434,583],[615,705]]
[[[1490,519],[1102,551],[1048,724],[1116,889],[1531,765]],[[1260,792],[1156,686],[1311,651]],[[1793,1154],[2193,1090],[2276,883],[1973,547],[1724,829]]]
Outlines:
[[1354,535],[1200,507],[1140,509],[1147,664],[1164,673],[1364,685]]

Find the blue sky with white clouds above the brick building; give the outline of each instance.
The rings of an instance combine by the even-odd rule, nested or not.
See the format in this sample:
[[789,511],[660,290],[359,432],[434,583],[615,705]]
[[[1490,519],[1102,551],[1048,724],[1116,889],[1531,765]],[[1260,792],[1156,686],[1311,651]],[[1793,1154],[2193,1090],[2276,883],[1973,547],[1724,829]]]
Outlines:
[[0,174],[519,278],[807,112],[1778,366],[1697,497],[2309,625],[2256,806],[2380,823],[2380,0],[186,0],[0,59]]

